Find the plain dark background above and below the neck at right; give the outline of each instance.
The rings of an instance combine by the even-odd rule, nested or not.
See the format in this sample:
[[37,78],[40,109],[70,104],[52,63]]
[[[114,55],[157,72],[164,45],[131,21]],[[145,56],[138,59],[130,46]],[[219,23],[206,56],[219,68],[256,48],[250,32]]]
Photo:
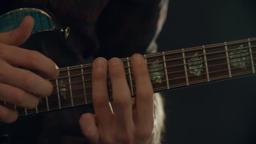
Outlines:
[[[159,51],[256,37],[256,2],[171,0]],[[256,143],[256,75],[162,92],[167,143]]]

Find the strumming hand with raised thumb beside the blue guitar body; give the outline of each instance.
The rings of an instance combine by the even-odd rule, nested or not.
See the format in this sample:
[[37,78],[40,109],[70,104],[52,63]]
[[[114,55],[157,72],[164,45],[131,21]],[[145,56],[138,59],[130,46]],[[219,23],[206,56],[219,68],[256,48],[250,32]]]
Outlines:
[[[14,31],[0,33],[0,100],[20,107],[34,109],[39,98],[32,93],[47,97],[53,91],[50,81],[32,73],[40,71],[50,79],[59,75],[56,64],[37,51],[17,47],[30,37],[34,25],[33,18],[26,16]],[[11,123],[18,118],[18,112],[0,105],[0,122]]]

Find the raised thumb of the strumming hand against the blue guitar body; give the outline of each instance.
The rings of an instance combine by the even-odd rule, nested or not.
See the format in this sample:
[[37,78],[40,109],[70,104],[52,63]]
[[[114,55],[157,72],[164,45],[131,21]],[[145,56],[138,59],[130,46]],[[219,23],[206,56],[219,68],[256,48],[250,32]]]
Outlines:
[[19,46],[25,43],[25,41],[30,37],[33,26],[33,17],[27,15],[18,28],[13,31],[0,33],[0,43],[14,46]]

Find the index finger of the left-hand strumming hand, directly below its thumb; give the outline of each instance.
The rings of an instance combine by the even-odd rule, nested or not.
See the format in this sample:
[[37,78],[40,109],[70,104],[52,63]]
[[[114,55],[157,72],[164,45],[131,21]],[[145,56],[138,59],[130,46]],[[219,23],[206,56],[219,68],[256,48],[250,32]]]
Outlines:
[[57,65],[40,52],[5,44],[0,44],[0,48],[0,57],[11,65],[40,71],[50,79],[56,79],[59,76]]

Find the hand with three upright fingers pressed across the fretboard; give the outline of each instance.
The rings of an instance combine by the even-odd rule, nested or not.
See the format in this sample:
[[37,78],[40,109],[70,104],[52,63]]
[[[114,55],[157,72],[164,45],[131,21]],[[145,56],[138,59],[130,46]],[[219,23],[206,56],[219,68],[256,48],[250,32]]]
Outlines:
[[92,68],[92,100],[95,114],[80,118],[83,134],[91,143],[154,143],[157,135],[154,119],[153,88],[144,58],[135,54],[131,65],[136,85],[132,105],[123,62],[118,58],[108,63],[113,92],[113,113],[107,91],[107,61],[97,58]]

